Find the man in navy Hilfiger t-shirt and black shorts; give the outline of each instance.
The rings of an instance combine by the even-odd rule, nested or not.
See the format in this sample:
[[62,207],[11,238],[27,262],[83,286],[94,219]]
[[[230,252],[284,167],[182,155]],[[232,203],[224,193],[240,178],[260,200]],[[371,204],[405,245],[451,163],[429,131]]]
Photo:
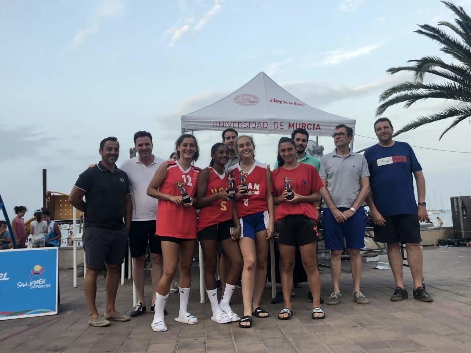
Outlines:
[[[425,179],[414,151],[405,142],[392,139],[391,121],[381,117],[375,124],[378,144],[369,147],[364,156],[370,170],[371,194],[367,197],[373,217],[375,241],[388,244],[388,259],[396,281],[391,301],[408,297],[402,277],[402,256],[399,242],[407,246],[407,261],[414,281],[413,295],[423,302],[432,297],[422,286],[422,250],[418,220],[425,221]],[[417,183],[415,200],[412,174]]]

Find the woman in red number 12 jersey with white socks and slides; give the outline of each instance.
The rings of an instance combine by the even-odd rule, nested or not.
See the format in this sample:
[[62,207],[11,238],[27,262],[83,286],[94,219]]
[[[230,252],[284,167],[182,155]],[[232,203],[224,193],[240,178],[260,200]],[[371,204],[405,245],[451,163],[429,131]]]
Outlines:
[[198,160],[199,147],[193,135],[183,134],[175,142],[177,160],[167,161],[155,172],[147,194],[159,199],[155,233],[160,237],[164,270],[155,295],[155,315],[151,327],[167,331],[164,305],[175,271],[180,272],[180,311],[175,321],[196,324],[187,311],[191,287],[191,263],[196,247],[197,220],[194,196],[201,169],[191,165]]

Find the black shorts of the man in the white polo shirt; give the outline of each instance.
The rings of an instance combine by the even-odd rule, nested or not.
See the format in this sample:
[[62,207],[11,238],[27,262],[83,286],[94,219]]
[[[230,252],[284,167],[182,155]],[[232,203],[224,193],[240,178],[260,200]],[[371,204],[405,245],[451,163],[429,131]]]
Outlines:
[[129,230],[131,257],[145,255],[147,243],[151,253],[162,254],[160,239],[155,235],[155,221],[132,221],[131,229]]

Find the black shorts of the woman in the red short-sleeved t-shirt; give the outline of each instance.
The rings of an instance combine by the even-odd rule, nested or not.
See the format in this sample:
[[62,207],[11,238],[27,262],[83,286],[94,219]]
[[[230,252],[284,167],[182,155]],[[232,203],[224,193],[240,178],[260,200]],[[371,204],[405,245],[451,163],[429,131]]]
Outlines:
[[275,241],[300,247],[319,240],[316,221],[303,215],[290,215],[280,219],[275,228]]

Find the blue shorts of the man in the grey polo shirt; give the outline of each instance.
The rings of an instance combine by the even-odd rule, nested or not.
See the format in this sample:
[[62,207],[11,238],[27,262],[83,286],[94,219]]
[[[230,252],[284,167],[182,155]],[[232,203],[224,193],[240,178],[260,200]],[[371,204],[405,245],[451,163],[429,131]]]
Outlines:
[[[340,207],[339,210],[343,212],[348,208]],[[344,237],[348,249],[364,248],[364,232],[367,228],[367,222],[364,218],[363,206],[358,208],[355,214],[348,218],[345,223],[337,223],[328,208],[324,208],[323,216],[326,249],[343,250]]]

